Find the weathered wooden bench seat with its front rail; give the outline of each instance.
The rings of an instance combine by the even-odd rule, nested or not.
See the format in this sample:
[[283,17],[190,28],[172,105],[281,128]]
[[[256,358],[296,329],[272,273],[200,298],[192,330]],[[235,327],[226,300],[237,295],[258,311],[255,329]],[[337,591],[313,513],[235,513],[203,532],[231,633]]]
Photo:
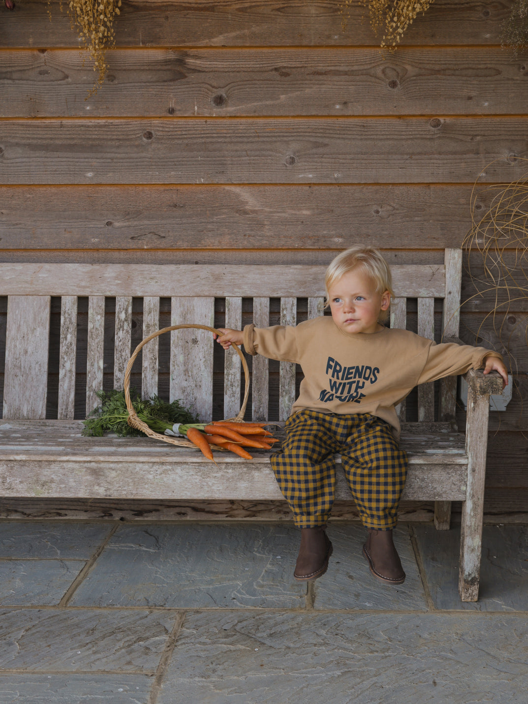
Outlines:
[[[409,457],[403,499],[464,501],[467,454],[464,439],[448,423],[403,427]],[[414,427],[413,427],[414,426]],[[175,448],[149,438],[84,437],[82,421],[0,421],[0,486],[3,496],[182,500],[283,500],[270,453],[253,460]],[[340,464],[339,455],[336,457]],[[337,471],[336,498],[350,498]]]

